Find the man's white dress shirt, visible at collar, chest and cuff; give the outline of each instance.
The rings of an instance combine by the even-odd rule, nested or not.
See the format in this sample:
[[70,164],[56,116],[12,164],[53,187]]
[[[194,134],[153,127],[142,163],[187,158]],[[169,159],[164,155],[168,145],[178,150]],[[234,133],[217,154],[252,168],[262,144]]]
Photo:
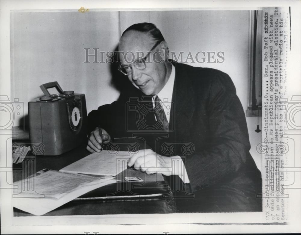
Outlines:
[[[170,111],[171,111],[171,104],[172,104],[172,91],[173,86],[175,83],[175,66],[172,64],[172,70],[169,76],[169,79],[167,80],[166,84],[162,88],[162,90],[157,94],[157,96],[160,99],[160,104],[163,107],[165,116],[167,118],[167,121],[169,123],[170,121]],[[156,95],[153,96],[153,107],[155,108],[155,98]],[[156,119],[156,116],[155,116]],[[156,119],[157,120],[157,119]],[[179,175],[179,177],[182,179],[182,181],[185,184],[189,183],[187,171],[184,165],[184,162],[180,156],[172,156],[172,162],[171,162],[171,171],[172,175]]]

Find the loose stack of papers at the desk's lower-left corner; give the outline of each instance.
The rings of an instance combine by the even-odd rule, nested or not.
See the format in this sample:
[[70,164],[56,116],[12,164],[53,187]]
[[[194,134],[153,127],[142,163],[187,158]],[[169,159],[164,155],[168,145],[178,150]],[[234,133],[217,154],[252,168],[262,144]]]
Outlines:
[[14,189],[13,206],[43,215],[67,202],[107,184],[116,183],[114,177],[94,177],[44,169],[17,182]]

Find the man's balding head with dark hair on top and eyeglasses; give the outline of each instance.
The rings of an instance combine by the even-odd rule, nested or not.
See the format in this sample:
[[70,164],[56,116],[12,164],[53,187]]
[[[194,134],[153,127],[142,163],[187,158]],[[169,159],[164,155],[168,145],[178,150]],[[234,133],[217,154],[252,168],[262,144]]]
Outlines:
[[[158,44],[157,46],[155,46]],[[146,67],[139,69],[133,65],[148,54]],[[132,84],[146,95],[156,95],[164,87],[171,73],[167,60],[167,43],[159,29],[151,23],[134,24],[127,28],[119,40],[122,66],[130,66],[128,74]]]

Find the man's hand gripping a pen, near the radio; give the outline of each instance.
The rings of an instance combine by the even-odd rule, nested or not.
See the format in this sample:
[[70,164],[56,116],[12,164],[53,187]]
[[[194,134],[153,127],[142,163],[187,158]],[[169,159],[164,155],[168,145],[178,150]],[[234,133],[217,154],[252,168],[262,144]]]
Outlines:
[[94,131],[91,131],[87,150],[91,153],[100,152],[103,144],[107,144],[111,141],[110,135],[104,129],[96,127]]

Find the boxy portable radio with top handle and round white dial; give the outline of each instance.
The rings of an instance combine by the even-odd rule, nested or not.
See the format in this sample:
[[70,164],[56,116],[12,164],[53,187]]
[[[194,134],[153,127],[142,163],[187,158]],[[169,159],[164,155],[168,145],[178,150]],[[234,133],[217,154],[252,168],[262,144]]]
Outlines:
[[[44,147],[39,155],[60,155],[86,141],[85,94],[63,91],[57,82],[40,88],[44,96],[28,102],[30,142]],[[49,88],[59,94],[50,94]]]

